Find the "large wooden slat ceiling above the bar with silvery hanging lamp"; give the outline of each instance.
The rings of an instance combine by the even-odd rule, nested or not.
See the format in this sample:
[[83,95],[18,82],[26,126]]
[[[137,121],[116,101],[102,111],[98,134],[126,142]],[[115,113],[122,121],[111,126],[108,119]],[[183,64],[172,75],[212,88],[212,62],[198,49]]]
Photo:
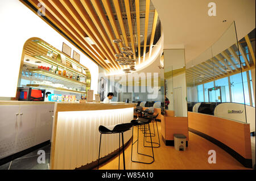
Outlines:
[[[37,10],[40,9],[39,3],[42,3],[46,18],[107,71],[125,68],[115,61],[115,54],[120,53],[122,47],[131,47],[135,55],[130,58],[137,58],[137,65],[145,61],[146,52],[151,53],[156,27],[159,25],[158,13],[150,0],[28,0],[27,4],[22,2],[27,6],[34,6]],[[89,37],[94,44],[85,37]],[[122,39],[123,42],[115,44],[114,39]]]

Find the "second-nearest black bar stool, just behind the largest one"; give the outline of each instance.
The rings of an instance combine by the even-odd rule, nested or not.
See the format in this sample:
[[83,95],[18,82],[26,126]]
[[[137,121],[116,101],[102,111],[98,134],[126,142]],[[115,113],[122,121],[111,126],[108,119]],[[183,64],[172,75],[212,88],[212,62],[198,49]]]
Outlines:
[[[149,127],[149,131],[150,131],[150,125],[149,123],[151,122],[152,118],[151,117],[147,117],[147,118],[143,118],[143,117],[138,117],[137,120],[131,120],[131,123],[133,123],[133,128],[134,127],[138,127],[137,128],[137,140],[135,142],[133,142],[133,136],[131,138],[131,161],[132,162],[137,162],[137,163],[145,163],[145,164],[151,164],[155,161],[155,157],[154,157],[154,150],[153,150],[153,145],[152,145],[152,138],[151,138],[151,132],[150,132],[150,140],[151,140],[151,149],[152,149],[152,155],[147,155],[147,154],[143,154],[143,153],[139,153],[139,127],[144,127],[144,136],[143,136],[143,145],[144,145],[144,139],[146,138],[145,137],[145,133],[146,133],[146,130],[145,130],[145,125],[148,124],[148,127]],[[151,162],[141,162],[141,161],[134,161],[133,160],[133,145],[137,142],[137,153],[138,154],[141,154],[141,155],[144,155],[146,157],[150,157],[152,158],[152,161]]]

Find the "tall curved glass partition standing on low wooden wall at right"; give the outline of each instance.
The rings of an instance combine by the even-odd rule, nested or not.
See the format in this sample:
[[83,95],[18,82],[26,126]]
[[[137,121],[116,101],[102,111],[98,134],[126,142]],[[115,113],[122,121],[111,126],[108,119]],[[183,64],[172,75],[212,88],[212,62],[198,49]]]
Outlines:
[[188,62],[188,111],[245,123],[252,119],[250,112],[255,112],[255,106],[250,74],[255,63],[249,47],[253,36],[255,42],[255,35],[249,33],[246,36],[248,38],[237,41],[233,22],[220,39]]

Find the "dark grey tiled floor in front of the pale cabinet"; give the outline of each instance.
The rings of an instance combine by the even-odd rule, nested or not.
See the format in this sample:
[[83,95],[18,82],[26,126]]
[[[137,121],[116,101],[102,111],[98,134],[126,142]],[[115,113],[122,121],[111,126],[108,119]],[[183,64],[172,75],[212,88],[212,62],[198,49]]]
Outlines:
[[[45,151],[45,163],[38,163],[38,159],[39,161],[42,161],[42,157],[40,157],[40,154],[38,154],[38,150]],[[28,153],[26,155],[23,155],[22,157],[14,159],[11,162],[1,165],[0,170],[49,170],[51,146],[47,145],[38,150],[32,151],[31,153]]]

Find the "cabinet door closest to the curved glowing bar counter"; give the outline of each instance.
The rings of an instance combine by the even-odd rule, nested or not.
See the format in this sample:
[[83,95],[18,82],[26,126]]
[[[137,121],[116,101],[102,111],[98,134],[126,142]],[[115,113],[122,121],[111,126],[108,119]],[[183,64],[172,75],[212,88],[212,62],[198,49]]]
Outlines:
[[51,140],[54,104],[36,107],[36,135],[35,144]]

